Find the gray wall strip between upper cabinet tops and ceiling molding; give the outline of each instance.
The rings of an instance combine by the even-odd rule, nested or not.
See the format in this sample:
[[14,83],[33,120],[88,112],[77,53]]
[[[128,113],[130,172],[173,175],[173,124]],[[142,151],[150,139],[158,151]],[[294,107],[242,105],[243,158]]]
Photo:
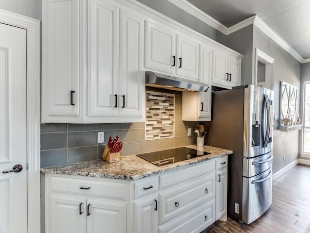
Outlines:
[[160,12],[161,14],[182,23],[183,25],[216,40],[217,30],[205,24],[196,17],[177,7],[168,0],[138,0],[142,4]]

